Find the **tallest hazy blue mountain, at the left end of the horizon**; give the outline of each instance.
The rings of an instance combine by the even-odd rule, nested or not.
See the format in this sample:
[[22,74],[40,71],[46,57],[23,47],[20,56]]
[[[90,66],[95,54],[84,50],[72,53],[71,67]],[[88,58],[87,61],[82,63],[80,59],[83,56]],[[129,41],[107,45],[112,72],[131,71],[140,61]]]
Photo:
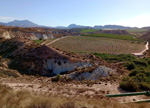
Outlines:
[[8,23],[1,23],[0,25],[5,25],[5,26],[15,26],[15,27],[39,27],[38,24],[35,24],[29,20],[14,20]]

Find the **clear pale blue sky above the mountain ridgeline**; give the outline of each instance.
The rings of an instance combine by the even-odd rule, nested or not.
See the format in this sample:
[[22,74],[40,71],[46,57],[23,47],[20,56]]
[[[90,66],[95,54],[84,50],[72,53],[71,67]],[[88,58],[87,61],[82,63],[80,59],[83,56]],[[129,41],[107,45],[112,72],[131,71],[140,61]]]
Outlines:
[[150,0],[0,0],[0,22],[150,26]]

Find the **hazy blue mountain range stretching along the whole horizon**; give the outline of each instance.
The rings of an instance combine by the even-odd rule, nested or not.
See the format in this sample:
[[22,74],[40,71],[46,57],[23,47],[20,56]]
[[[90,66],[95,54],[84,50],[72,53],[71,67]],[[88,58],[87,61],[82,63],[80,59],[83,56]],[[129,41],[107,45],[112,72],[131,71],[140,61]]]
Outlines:
[[120,25],[104,25],[104,26],[95,25],[94,27],[92,27],[92,26],[84,26],[84,25],[77,25],[77,24],[70,24],[68,27],[65,27],[65,26],[50,27],[50,26],[38,25],[29,20],[14,20],[8,23],[0,22],[0,25],[16,26],[16,27],[48,27],[48,28],[56,28],[56,29],[73,29],[73,28],[132,29],[132,28],[137,28],[137,27],[126,27],[126,26],[120,26]]

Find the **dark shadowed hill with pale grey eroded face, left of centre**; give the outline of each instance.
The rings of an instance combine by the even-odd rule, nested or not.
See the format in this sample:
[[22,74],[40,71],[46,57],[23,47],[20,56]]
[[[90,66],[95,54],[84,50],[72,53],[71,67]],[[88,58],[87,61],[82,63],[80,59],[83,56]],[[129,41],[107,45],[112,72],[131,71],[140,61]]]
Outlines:
[[25,38],[1,40],[0,55],[10,59],[9,68],[32,75],[53,76],[75,70],[76,67],[90,66],[87,61],[61,54]]

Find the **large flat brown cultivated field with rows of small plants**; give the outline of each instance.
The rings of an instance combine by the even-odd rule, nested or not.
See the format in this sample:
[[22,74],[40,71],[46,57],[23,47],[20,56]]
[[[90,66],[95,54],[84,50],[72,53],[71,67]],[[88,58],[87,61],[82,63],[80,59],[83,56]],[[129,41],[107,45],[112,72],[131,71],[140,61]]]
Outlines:
[[69,52],[129,54],[141,52],[145,48],[144,42],[121,39],[71,36],[61,39],[50,46]]

